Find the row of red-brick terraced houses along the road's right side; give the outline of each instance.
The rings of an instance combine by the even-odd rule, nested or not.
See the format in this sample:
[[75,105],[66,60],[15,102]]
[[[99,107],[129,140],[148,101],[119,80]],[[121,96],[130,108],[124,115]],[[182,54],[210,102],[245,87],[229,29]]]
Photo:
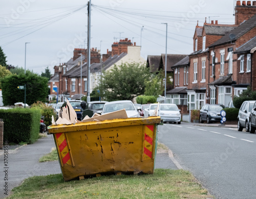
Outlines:
[[[237,1],[233,25],[218,21],[205,21],[203,27],[197,24],[194,52],[173,66],[177,84],[167,92],[172,102],[185,104],[186,99],[188,110],[201,109],[206,103],[227,106],[233,95],[240,94],[247,86],[256,89],[253,87],[255,14],[256,2],[251,5],[248,1],[246,5],[243,1],[241,5]],[[181,102],[180,98],[184,100]]]

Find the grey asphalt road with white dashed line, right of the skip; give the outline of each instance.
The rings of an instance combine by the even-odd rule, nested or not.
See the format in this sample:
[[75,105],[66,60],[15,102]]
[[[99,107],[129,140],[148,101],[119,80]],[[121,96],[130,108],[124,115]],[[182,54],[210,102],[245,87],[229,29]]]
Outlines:
[[182,122],[158,126],[158,140],[216,198],[256,197],[256,134]]

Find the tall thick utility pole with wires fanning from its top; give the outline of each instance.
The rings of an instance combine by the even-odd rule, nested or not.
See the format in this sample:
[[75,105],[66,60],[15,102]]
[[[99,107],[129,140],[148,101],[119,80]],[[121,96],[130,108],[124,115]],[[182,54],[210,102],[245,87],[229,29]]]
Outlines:
[[88,38],[87,38],[87,103],[90,97],[90,67],[91,67],[91,0],[88,2]]

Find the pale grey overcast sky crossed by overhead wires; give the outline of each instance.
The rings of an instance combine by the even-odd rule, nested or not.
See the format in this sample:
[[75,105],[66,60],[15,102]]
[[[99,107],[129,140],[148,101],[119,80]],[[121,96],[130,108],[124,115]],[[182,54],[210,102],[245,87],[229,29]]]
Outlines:
[[[205,17],[221,24],[234,23],[234,0],[92,0],[91,48],[111,51],[119,39],[141,44],[141,56],[190,54],[197,21]],[[0,46],[7,63],[41,74],[47,66],[73,57],[74,48],[87,46],[88,1],[2,0]],[[143,29],[142,29],[143,27]],[[87,48],[87,47],[86,47]]]

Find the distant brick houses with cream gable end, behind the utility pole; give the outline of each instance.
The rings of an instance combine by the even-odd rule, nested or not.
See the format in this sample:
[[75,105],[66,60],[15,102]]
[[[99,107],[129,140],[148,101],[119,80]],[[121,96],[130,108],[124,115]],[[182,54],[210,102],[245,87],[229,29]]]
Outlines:
[[[98,85],[102,70],[109,70],[115,64],[133,62],[145,63],[145,60],[140,56],[140,46],[136,46],[136,43],[133,44],[127,38],[114,42],[112,51],[108,50],[106,54],[103,54],[102,60],[100,51],[97,48],[92,48],[90,93]],[[87,49],[75,48],[73,58],[64,64],[54,66],[54,75],[49,81],[51,87],[49,101],[57,96],[57,93],[53,91],[53,86],[58,87],[58,98],[61,102],[66,98],[80,99],[81,96],[87,95],[87,70]]]

